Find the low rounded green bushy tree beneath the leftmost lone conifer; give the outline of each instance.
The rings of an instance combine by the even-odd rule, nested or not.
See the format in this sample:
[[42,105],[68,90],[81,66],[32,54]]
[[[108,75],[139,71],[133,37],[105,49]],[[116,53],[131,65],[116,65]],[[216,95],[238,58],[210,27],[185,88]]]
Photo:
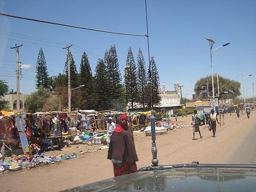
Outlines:
[[27,112],[34,113],[36,111],[42,111],[42,108],[47,99],[50,97],[51,91],[39,87],[37,91],[29,95],[25,101],[25,109]]

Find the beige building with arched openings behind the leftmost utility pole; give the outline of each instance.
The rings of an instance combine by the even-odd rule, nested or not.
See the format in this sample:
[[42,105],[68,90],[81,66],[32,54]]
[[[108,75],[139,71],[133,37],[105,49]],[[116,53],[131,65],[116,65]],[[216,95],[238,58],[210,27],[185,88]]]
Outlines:
[[[21,111],[25,111],[25,101],[28,95],[19,95],[19,108]],[[17,94],[5,95],[5,101],[9,101],[9,108],[11,111],[17,110]]]

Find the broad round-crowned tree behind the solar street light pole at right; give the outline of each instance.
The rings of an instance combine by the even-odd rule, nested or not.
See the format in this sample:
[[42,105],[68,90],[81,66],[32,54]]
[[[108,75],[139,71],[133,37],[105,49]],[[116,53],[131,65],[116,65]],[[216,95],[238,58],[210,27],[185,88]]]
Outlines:
[[[238,81],[230,80],[222,76],[218,76],[219,79],[219,90],[221,99],[232,99],[238,97],[240,93],[240,83]],[[207,81],[209,86],[209,95],[213,95],[212,89],[212,78],[203,77],[200,78],[194,85],[194,91],[196,94],[202,94],[202,97],[207,98]],[[214,95],[218,96],[218,83],[217,78],[214,78]]]

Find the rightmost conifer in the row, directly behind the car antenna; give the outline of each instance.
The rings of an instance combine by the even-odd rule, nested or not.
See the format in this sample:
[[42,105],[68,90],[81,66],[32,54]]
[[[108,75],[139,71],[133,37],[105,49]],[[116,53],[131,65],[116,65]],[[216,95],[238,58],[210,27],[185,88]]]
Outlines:
[[154,57],[151,57],[148,66],[148,86],[147,92],[147,105],[151,106],[151,94],[152,94],[152,108],[154,105],[158,105],[161,101],[160,97],[160,78],[157,70],[156,62]]

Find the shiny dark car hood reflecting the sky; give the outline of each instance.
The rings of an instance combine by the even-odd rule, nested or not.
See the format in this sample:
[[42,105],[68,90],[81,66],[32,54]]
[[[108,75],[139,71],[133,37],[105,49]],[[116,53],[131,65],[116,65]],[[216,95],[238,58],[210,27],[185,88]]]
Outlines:
[[256,169],[176,168],[136,172],[64,191],[256,191]]

